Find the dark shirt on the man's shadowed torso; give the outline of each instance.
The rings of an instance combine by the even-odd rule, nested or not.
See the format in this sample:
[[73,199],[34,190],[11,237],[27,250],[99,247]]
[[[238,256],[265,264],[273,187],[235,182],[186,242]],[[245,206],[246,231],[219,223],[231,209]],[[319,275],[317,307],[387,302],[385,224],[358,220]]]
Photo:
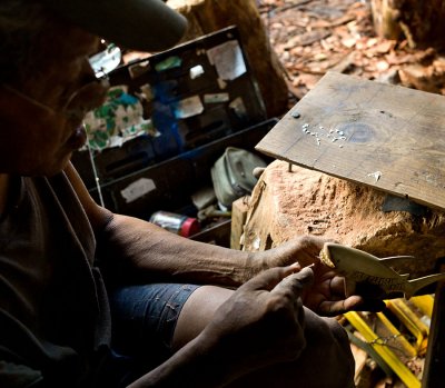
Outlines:
[[0,221],[0,387],[90,387],[110,318],[96,240],[63,173],[17,179]]

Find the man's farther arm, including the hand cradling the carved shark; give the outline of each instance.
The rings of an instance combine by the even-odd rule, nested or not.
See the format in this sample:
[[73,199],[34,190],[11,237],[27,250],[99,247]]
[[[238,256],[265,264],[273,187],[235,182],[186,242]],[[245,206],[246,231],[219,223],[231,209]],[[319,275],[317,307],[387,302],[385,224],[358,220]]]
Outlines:
[[[111,213],[92,200],[72,166],[66,172],[96,232],[99,258],[111,276],[119,279],[130,276],[134,281],[155,279],[237,287],[267,268],[295,262],[303,268],[315,263],[315,283],[305,298],[307,307],[328,316],[365,308],[362,297],[346,298],[344,279],[319,262],[324,239],[304,236],[255,253],[192,241],[150,222]],[[382,304],[374,302],[370,309],[382,309]]]

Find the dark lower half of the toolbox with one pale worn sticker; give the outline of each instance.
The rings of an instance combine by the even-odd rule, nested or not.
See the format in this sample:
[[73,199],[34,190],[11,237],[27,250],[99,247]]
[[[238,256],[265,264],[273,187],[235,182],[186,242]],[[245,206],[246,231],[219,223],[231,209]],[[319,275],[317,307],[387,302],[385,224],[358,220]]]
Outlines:
[[[277,119],[269,119],[105,183],[101,186],[105,206],[142,219],[159,209],[175,211],[185,207],[191,202],[191,193],[211,185],[210,169],[228,146],[255,152],[254,147],[276,123]],[[264,155],[260,157],[269,161]],[[99,199],[97,188],[90,192]]]

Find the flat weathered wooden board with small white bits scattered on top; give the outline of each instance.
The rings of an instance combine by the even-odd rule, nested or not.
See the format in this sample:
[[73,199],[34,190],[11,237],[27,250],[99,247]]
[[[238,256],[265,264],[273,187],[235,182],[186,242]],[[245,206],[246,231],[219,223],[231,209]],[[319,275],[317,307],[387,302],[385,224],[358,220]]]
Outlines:
[[445,208],[443,96],[328,72],[256,149]]

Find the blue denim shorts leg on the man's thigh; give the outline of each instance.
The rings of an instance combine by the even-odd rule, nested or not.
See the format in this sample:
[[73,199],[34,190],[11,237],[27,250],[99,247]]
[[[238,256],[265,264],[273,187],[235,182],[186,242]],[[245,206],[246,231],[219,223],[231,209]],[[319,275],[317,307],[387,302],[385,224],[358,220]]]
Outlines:
[[172,355],[172,338],[195,285],[127,286],[110,292],[112,356],[108,369],[119,386],[156,368]]

